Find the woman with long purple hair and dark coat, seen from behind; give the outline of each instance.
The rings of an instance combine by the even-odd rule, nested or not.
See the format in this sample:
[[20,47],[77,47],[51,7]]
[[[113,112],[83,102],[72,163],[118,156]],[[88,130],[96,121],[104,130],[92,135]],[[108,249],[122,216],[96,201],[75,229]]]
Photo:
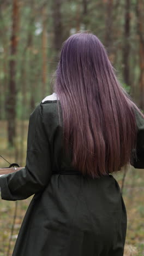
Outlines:
[[2,199],[35,194],[13,256],[123,256],[127,212],[110,173],[144,168],[144,117],[94,35],[70,37],[56,74],[29,119],[25,168],[0,178]]

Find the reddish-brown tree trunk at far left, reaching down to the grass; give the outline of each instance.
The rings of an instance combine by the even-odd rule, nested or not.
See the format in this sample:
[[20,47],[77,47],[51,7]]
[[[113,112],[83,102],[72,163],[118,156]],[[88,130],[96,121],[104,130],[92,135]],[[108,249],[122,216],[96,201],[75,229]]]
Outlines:
[[10,40],[10,54],[11,59],[9,61],[9,96],[7,102],[8,113],[8,142],[9,146],[14,146],[14,139],[16,135],[16,52],[18,44],[18,26],[19,26],[19,0],[13,0],[13,14],[12,14],[13,26],[11,29]]

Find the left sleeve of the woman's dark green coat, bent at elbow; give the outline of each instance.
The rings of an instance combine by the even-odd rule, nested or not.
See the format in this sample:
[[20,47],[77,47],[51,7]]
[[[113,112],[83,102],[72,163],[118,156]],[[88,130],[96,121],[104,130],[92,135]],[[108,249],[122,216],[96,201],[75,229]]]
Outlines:
[[2,199],[23,200],[45,189],[52,174],[50,142],[46,134],[40,103],[29,118],[26,166],[0,177]]

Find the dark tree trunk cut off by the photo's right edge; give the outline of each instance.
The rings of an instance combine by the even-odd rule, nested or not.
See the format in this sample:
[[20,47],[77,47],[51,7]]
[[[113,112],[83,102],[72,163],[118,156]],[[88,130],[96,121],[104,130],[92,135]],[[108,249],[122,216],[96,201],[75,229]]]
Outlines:
[[139,34],[139,61],[140,61],[140,108],[144,110],[144,5],[143,0],[137,0],[137,33]]

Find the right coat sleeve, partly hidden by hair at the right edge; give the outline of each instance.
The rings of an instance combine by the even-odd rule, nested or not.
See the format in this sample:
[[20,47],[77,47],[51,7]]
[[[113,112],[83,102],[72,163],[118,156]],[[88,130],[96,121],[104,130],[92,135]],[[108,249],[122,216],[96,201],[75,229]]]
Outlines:
[[135,110],[135,118],[137,124],[137,144],[136,144],[136,158],[131,161],[131,165],[137,169],[144,169],[144,118]]

